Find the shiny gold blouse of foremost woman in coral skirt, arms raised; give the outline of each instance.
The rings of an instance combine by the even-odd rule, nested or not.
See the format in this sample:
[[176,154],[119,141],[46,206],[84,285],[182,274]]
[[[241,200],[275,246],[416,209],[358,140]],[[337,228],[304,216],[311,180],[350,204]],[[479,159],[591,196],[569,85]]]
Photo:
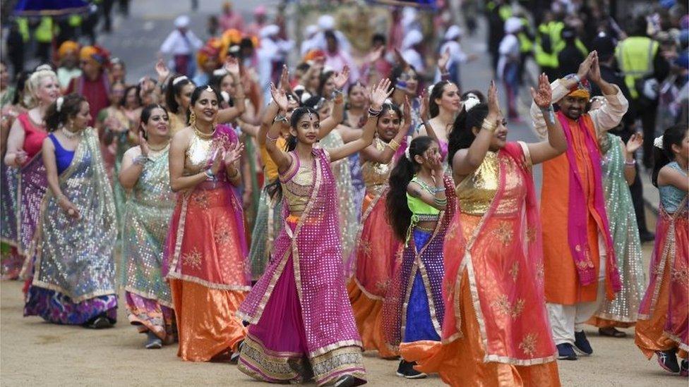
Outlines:
[[496,214],[515,214],[526,196],[526,186],[517,168],[512,162],[500,163],[498,153],[488,152],[484,161],[474,173],[467,176],[455,188],[460,211],[464,214],[481,216],[491,208],[491,203],[498,191],[500,168],[505,171],[505,192],[496,208]]

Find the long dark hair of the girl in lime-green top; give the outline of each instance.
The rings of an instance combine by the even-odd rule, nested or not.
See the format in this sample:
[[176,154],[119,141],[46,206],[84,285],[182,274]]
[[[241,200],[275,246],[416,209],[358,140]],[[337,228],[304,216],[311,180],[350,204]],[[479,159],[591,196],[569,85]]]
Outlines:
[[[400,157],[393,171],[390,171],[390,190],[385,202],[385,212],[395,236],[400,240],[407,238],[409,224],[412,223],[412,210],[407,205],[407,185],[414,174],[421,169],[421,164],[414,160],[417,154],[424,154],[434,140],[429,136],[419,136],[409,144],[409,159]],[[411,159],[411,160],[410,160]]]

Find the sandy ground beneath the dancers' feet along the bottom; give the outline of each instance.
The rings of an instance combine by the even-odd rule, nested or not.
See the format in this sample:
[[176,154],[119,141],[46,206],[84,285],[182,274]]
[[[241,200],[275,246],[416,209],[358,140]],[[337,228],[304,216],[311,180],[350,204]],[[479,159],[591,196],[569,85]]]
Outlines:
[[[645,261],[651,245],[645,245]],[[260,386],[231,364],[182,362],[176,345],[145,350],[145,336],[126,319],[124,305],[112,329],[93,331],[78,326],[44,323],[22,317],[21,284],[0,285],[0,386]],[[563,386],[687,386],[655,360],[647,361],[634,345],[633,328],[627,338],[602,338],[587,333],[595,353],[576,362],[559,362]],[[366,353],[371,386],[442,386],[438,376],[408,381],[395,376],[397,362]]]

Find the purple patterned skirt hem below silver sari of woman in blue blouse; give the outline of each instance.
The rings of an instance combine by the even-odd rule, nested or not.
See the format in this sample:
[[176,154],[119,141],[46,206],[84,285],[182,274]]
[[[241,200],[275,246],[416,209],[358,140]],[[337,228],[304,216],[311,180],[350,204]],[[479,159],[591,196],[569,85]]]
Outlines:
[[55,290],[30,285],[26,292],[24,317],[40,316],[54,324],[81,325],[102,314],[112,324],[117,321],[117,295],[101,295],[74,303]]

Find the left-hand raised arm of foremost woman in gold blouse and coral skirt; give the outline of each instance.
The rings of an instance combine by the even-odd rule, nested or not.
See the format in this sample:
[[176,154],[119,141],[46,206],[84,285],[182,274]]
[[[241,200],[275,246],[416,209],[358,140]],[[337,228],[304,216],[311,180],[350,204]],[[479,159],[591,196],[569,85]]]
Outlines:
[[[467,149],[460,149],[453,156],[453,175],[455,182],[462,181],[464,176],[474,172],[484,162],[486,153],[491,145],[491,138],[495,135],[495,130],[498,128],[498,118],[500,118],[500,105],[498,104],[498,88],[495,81],[491,80],[491,86],[488,89],[488,116],[484,119],[479,133],[477,133],[474,142]],[[455,130],[473,130],[473,128],[455,128]]]

